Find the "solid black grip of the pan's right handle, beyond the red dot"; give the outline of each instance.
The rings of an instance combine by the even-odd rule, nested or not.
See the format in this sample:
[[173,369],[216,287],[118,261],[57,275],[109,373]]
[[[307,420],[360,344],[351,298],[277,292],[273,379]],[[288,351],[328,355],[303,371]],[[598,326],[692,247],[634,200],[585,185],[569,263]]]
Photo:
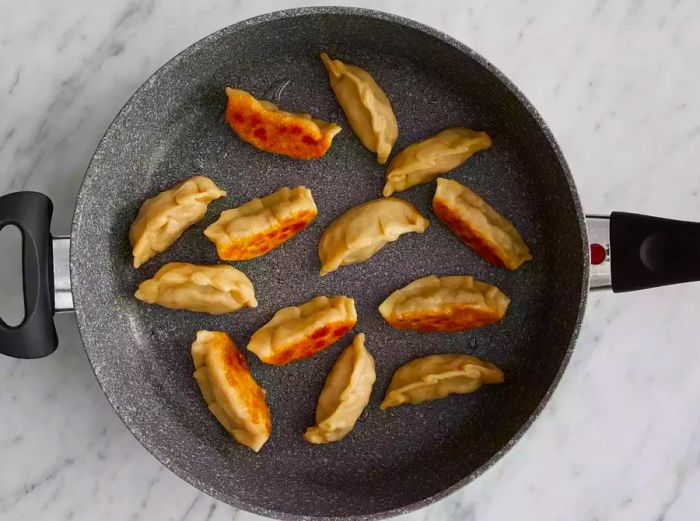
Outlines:
[[610,214],[615,292],[700,280],[700,223]]

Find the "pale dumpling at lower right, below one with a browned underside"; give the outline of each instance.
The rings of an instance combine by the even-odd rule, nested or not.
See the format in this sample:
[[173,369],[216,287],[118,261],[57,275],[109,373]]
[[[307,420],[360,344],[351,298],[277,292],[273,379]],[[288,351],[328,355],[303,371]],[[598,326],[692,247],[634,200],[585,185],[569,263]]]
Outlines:
[[396,370],[379,407],[429,402],[450,394],[473,393],[482,384],[500,383],[503,383],[503,371],[475,356],[426,356]]

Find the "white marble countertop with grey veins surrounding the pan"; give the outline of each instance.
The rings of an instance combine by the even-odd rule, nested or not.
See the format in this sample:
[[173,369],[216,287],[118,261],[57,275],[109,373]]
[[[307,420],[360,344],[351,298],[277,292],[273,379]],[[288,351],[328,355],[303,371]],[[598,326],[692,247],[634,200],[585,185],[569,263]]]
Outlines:
[[[90,156],[144,79],[224,25],[295,5],[0,0],[0,193],[47,193],[54,233],[67,233]],[[700,220],[700,3],[381,8],[455,36],[514,80],[558,137],[589,212]],[[5,317],[15,247],[3,233]],[[593,294],[569,370],[524,439],[469,487],[404,519],[697,518],[699,297],[698,284]],[[153,459],[100,391],[73,316],[59,316],[57,327],[53,356],[0,359],[0,519],[261,519]]]

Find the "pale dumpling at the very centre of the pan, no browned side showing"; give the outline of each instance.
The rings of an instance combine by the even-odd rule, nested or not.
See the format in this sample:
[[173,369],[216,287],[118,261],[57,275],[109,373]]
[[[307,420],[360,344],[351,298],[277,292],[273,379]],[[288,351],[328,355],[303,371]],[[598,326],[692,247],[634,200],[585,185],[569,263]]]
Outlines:
[[323,232],[318,245],[321,275],[369,259],[404,233],[423,233],[428,220],[411,204],[394,197],[351,208]]

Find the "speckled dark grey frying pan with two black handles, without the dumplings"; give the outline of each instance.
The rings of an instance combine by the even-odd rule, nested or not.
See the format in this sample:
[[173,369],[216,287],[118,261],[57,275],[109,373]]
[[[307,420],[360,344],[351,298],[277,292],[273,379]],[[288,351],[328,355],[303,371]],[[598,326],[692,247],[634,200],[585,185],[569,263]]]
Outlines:
[[[367,262],[320,278],[322,230],[348,208],[379,197],[383,167],[352,134],[318,54],[369,70],[391,99],[395,150],[451,126],[485,130],[493,147],[449,174],[508,216],[534,260],[509,272],[464,247],[433,216],[434,183],[399,194],[432,224]],[[337,121],[329,153],[294,161],[253,149],[227,127],[223,87],[273,98],[284,109]],[[142,201],[197,172],[228,192],[206,219],[139,270],[127,230]],[[208,316],[147,306],[138,283],[169,261],[217,262],[203,229],[218,213],[281,186],[308,186],[319,216],[271,253],[236,263],[260,305]],[[0,323],[0,352],[37,358],[57,346],[54,312],[74,309],[85,350],[110,403],[164,465],[231,505],[281,519],[380,518],[435,501],[504,454],[542,410],[576,340],[589,287],[614,291],[700,279],[700,225],[636,214],[587,220],[546,124],[516,87],[465,45],[393,15],[350,8],[272,13],[204,38],[156,72],[100,142],[78,195],[70,238],[49,233],[51,202],[34,192],[0,198],[0,227],[23,235],[25,319]],[[590,265],[591,261],[594,265]],[[70,269],[70,275],[68,270]],[[427,274],[470,274],[511,299],[499,324],[459,334],[390,328],[377,313],[393,290]],[[344,440],[324,446],[301,433],[350,336],[286,367],[248,356],[268,392],[272,436],[259,454],[233,442],[203,404],[189,346],[199,329],[244,346],[280,307],[319,294],[355,298],[376,359],[369,406]],[[496,363],[506,382],[421,406],[378,409],[393,371],[435,353]]]

